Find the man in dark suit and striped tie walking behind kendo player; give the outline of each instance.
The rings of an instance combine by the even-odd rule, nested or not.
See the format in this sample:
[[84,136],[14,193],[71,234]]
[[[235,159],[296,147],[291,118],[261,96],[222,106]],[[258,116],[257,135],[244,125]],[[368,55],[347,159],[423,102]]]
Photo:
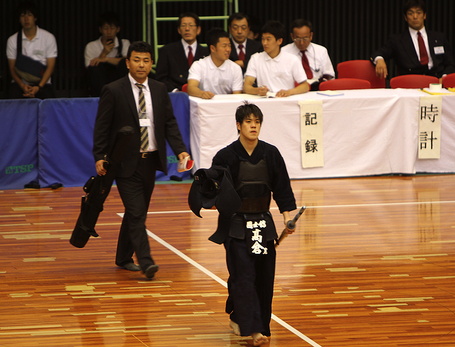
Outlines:
[[[125,206],[115,263],[130,271],[142,270],[148,278],[154,277],[158,265],[150,254],[145,220],[156,170],[167,172],[166,140],[180,161],[189,156],[166,87],[147,77],[152,57],[148,43],[130,45],[126,59],[129,74],[101,90],[93,135],[96,171],[102,176],[106,174],[103,164],[117,131],[124,126],[134,129],[115,178]],[[133,262],[133,253],[139,266]]]

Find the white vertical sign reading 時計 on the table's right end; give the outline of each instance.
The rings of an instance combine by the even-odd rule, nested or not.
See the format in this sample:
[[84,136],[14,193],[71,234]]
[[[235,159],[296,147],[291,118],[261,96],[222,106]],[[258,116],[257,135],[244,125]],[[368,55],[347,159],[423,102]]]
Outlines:
[[419,159],[441,155],[442,96],[422,96],[419,109]]

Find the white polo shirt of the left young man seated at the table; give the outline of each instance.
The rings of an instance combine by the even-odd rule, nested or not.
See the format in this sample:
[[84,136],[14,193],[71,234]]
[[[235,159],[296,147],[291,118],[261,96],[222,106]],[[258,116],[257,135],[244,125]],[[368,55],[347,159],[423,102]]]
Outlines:
[[214,94],[232,94],[243,90],[242,69],[231,60],[217,67],[209,55],[191,65],[188,80],[199,82],[199,89]]

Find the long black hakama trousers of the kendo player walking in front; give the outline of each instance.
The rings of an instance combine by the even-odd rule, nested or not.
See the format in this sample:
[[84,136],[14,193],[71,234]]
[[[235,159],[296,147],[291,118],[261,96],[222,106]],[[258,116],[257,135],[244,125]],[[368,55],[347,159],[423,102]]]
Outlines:
[[229,270],[226,313],[240,327],[242,336],[261,333],[270,336],[276,252],[267,242],[268,254],[250,254],[246,240],[227,237],[226,262]]

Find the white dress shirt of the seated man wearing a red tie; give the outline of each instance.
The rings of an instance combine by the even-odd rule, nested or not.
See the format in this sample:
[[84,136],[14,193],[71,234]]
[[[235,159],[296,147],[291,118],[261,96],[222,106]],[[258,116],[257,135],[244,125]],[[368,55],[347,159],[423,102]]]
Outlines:
[[[294,42],[284,46],[281,50],[295,55],[302,62],[302,52],[300,52]],[[307,56],[311,71],[313,71],[312,80],[319,80],[323,75],[329,75],[335,78],[335,71],[333,70],[327,48],[311,42],[308,45],[305,55]]]

